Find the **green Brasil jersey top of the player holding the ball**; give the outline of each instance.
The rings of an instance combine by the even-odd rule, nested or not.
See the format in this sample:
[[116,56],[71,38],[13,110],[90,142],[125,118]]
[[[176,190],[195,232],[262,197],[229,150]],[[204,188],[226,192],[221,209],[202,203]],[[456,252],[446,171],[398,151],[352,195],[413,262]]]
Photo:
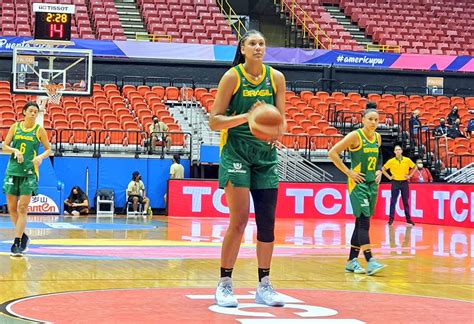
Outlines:
[[[245,72],[242,64],[234,66],[232,70],[237,75],[237,85],[226,111],[227,116],[240,115],[248,112],[257,100],[275,105],[276,86],[273,81],[273,72],[270,66],[263,65],[263,73],[259,80],[253,80]],[[244,141],[251,141],[257,145],[268,146],[268,143],[253,136],[248,123],[224,131],[222,144],[225,144],[227,141],[227,135],[239,137]]]

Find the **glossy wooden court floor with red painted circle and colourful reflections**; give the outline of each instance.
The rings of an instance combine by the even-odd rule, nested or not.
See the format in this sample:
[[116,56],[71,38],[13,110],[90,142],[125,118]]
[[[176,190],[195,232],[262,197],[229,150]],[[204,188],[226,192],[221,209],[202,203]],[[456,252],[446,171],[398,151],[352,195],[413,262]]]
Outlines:
[[[218,280],[220,244],[227,224],[226,219],[217,218],[30,216],[27,233],[32,245],[25,257],[12,258],[9,256],[12,226],[8,216],[0,216],[0,304],[3,304],[0,323],[155,322],[155,317],[141,319],[142,315],[137,315],[147,313],[150,303],[155,304],[162,314],[156,317],[157,323],[167,322],[167,319],[169,322],[174,319],[175,323],[254,323],[251,319],[240,318],[243,313],[220,314],[220,310],[213,308],[209,297]],[[439,319],[474,323],[473,229],[422,224],[407,227],[403,222],[387,226],[385,222],[375,220],[370,229],[372,250],[375,257],[388,267],[370,277],[344,272],[352,229],[350,220],[278,219],[271,268],[274,287],[307,304],[329,307],[333,303],[329,308],[341,316],[363,313],[354,308],[353,305],[357,304],[362,304],[365,312],[379,314],[370,318],[360,315],[359,322],[422,323]],[[257,284],[255,241],[256,227],[251,220],[233,274],[234,286],[243,294],[255,291]],[[359,260],[365,266],[362,255]],[[79,295],[68,294],[84,291],[91,294],[113,292],[114,296],[79,299]],[[57,294],[63,292],[67,293]],[[130,312],[135,314],[132,317],[120,317],[119,314],[115,319],[113,315],[100,317],[105,316],[100,315],[104,310],[111,314],[120,313],[118,310],[124,306],[120,299],[123,296],[117,297],[117,292],[129,292],[128,296],[137,294],[138,299],[151,299],[129,305]],[[194,292],[197,297],[190,296]],[[54,302],[56,308],[49,301],[43,304],[50,308],[42,309],[41,302],[31,304],[41,298],[25,300],[25,297],[32,296],[63,297]],[[180,298],[185,298],[183,296],[191,301],[203,301],[202,304],[196,302],[193,307],[190,307],[191,301],[179,305],[183,300]],[[396,298],[392,300],[392,297]],[[429,303],[425,305],[425,299],[410,300],[415,297],[434,300],[434,304],[426,306]],[[249,300],[248,296],[242,298]],[[377,306],[377,301],[382,299],[385,304]],[[105,304],[104,300],[107,301]],[[367,300],[371,300],[369,306],[364,304]],[[453,311],[449,302],[458,303],[456,312],[461,315],[449,315],[448,320],[435,317],[433,321],[423,317],[429,307],[440,314]],[[22,303],[26,303],[24,307]],[[97,303],[101,304],[102,313],[93,309]],[[166,317],[166,307],[161,307],[167,303],[170,312],[174,312],[168,314],[171,319]],[[78,308],[78,315],[71,315],[68,311],[66,316],[60,312],[61,307],[66,310]],[[252,309],[251,305],[246,307]],[[400,314],[403,307],[410,308],[406,309],[406,321],[396,317],[403,316]],[[191,320],[190,313],[187,314],[191,308],[189,312],[197,312],[193,316],[203,314],[202,318]],[[30,311],[36,312],[34,316],[28,313]],[[296,316],[285,313],[287,311],[286,308],[278,310],[280,313],[273,314],[273,320]],[[42,312],[46,314],[44,317]],[[48,317],[51,312],[57,312],[56,317]],[[419,312],[421,317],[411,320],[413,312]],[[318,323],[317,319],[325,318],[321,314],[315,315],[314,321],[306,318],[308,321],[305,323]],[[251,317],[255,323],[271,320],[255,316]],[[351,318],[359,315],[354,316]],[[298,317],[288,323],[303,323],[303,320]]]

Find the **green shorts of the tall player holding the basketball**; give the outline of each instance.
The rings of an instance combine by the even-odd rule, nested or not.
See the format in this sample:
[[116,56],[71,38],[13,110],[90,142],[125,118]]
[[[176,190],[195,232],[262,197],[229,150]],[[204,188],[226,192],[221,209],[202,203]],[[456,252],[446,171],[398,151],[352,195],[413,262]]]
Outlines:
[[229,181],[234,187],[277,189],[276,148],[229,136],[221,152],[219,188],[225,188]]

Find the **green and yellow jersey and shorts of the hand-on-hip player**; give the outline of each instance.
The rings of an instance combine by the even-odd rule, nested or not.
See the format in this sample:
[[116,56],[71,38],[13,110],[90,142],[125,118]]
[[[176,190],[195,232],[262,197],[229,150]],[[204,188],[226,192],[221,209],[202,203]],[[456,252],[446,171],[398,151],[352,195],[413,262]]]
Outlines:
[[365,181],[363,183],[356,183],[349,178],[349,196],[354,216],[364,215],[370,217],[374,214],[379,187],[375,182],[375,172],[377,171],[377,160],[379,157],[380,134],[375,133],[374,138],[369,140],[361,129],[358,129],[356,132],[359,137],[359,146],[349,149],[351,169],[364,173]]

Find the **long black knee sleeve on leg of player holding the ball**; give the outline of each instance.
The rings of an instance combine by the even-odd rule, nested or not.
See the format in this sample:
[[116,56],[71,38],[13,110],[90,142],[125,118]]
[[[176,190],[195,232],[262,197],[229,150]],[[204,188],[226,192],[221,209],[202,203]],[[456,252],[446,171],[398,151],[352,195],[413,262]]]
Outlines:
[[271,243],[275,240],[275,210],[277,189],[251,190],[257,223],[257,240]]

